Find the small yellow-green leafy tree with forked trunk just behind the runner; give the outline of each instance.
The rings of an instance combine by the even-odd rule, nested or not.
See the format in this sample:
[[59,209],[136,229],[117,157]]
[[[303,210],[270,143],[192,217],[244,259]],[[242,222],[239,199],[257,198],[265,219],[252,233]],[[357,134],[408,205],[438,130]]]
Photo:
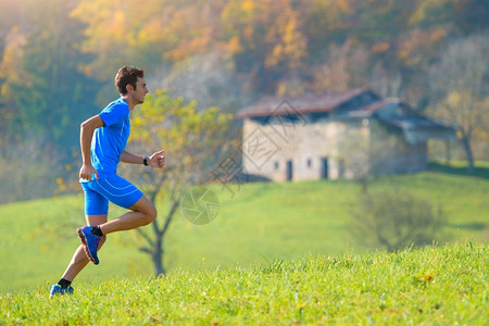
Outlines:
[[130,148],[147,153],[164,149],[166,156],[163,171],[147,170],[138,183],[150,201],[155,202],[159,197],[170,204],[151,224],[151,230],[136,230],[141,240],[139,249],[151,256],[156,275],[165,273],[163,239],[181,196],[190,187],[209,180],[206,171],[217,160],[231,117],[215,106],[199,112],[196,109],[195,101],[186,102],[156,90],[147,96],[131,116]]

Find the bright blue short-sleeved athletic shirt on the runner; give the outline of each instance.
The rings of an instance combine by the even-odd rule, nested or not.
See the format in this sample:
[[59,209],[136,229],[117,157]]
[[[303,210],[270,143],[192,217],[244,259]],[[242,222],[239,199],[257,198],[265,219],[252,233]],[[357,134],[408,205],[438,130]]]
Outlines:
[[97,128],[91,139],[91,164],[101,174],[115,174],[121,154],[130,134],[129,105],[120,98],[100,112],[103,127]]

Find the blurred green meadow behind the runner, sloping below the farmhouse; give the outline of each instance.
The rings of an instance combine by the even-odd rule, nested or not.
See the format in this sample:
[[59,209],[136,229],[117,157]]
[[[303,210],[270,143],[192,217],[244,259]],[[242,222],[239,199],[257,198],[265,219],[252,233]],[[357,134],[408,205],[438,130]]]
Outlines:
[[[233,185],[234,196],[213,186],[220,214],[208,225],[193,225],[178,214],[165,238],[168,271],[248,267],[275,260],[362,253],[349,233],[350,210],[359,186],[349,181]],[[489,236],[489,181],[485,175],[456,171],[425,172],[380,178],[374,188],[402,187],[443,210],[451,242],[480,243]],[[160,216],[167,205],[158,202]],[[122,211],[111,206],[112,216]],[[47,289],[57,281],[78,246],[84,224],[82,196],[17,202],[0,206],[0,293]],[[97,285],[114,277],[151,276],[149,258],[137,251],[134,233],[117,233],[77,284]],[[439,239],[444,243],[446,239]]]

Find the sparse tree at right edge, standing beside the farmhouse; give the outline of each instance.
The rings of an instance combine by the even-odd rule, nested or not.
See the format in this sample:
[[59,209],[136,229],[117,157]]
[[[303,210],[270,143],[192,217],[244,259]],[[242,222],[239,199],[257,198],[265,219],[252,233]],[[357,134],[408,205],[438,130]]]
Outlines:
[[434,114],[459,127],[469,171],[474,171],[472,139],[477,129],[488,130],[489,34],[453,41],[429,74]]

